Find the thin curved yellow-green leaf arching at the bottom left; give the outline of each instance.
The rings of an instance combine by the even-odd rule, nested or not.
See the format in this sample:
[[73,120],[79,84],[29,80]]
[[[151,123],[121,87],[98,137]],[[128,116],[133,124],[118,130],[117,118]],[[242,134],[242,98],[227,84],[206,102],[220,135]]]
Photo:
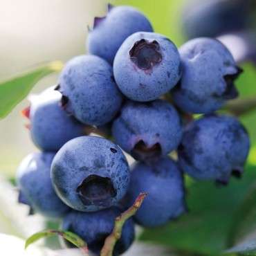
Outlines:
[[31,237],[28,237],[28,239],[26,240],[25,248],[27,248],[30,244],[35,243],[35,241],[43,237],[51,237],[53,235],[60,235],[67,241],[71,242],[71,244],[74,244],[78,248],[81,248],[84,251],[84,253],[87,253],[87,246],[85,241],[82,238],[75,235],[73,232],[62,231],[62,230],[51,230],[51,229],[37,232]]

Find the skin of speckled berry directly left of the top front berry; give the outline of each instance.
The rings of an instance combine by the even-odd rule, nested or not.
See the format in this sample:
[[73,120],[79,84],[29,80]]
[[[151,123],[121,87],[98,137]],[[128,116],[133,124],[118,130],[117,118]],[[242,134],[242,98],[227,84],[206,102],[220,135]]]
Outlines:
[[112,67],[98,56],[74,57],[64,67],[59,84],[68,97],[64,108],[86,125],[104,125],[120,109],[122,95]]

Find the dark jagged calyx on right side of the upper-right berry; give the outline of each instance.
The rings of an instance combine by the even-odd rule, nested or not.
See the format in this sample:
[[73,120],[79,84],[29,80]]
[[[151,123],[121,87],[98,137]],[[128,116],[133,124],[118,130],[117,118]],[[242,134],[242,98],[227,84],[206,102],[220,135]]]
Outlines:
[[232,75],[224,75],[224,80],[226,82],[226,90],[223,93],[223,97],[226,100],[235,99],[239,95],[237,89],[235,88],[234,82],[241,73],[243,73],[243,70],[239,68],[239,66],[237,66],[237,73]]

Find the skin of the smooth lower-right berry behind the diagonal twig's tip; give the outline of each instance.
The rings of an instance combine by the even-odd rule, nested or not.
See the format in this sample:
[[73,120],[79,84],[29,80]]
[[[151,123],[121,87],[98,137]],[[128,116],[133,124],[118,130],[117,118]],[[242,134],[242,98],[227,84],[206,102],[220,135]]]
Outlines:
[[183,175],[168,157],[159,158],[152,165],[137,162],[131,167],[131,183],[126,196],[129,205],[140,192],[148,193],[135,214],[141,226],[162,226],[186,209]]

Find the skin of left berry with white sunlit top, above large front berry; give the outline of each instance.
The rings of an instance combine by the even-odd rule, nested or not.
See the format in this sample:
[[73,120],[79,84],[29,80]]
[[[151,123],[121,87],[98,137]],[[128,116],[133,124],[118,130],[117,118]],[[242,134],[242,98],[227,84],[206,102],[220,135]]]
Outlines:
[[84,135],[84,126],[60,106],[61,97],[52,89],[31,99],[30,134],[33,143],[44,151],[57,151],[68,140]]

